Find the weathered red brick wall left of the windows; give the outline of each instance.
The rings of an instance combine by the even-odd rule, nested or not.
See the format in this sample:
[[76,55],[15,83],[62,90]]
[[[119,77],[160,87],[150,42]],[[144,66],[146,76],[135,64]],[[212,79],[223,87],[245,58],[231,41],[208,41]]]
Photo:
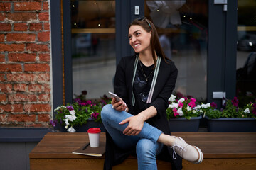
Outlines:
[[0,126],[48,126],[49,1],[0,0]]

